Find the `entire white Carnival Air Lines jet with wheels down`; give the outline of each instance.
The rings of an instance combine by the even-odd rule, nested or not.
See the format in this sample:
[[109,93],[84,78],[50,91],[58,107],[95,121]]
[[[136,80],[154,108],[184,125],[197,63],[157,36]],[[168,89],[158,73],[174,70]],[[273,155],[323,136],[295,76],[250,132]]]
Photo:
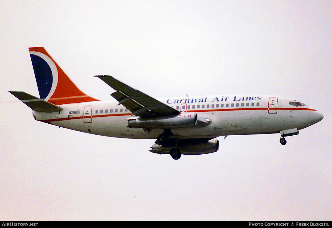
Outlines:
[[32,109],[38,121],[108,137],[156,139],[149,151],[207,154],[219,149],[217,137],[251,134],[298,135],[323,119],[304,103],[283,96],[233,94],[155,99],[112,76],[95,76],[115,92],[114,101],[86,95],[43,47],[29,48],[40,97],[9,91]]

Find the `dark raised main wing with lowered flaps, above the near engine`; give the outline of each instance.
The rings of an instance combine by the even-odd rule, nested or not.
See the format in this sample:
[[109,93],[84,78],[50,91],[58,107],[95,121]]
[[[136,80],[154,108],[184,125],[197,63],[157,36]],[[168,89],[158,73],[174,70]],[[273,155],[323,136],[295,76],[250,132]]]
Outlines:
[[[112,93],[119,104],[124,105],[135,116],[166,116],[178,115],[179,110],[164,104],[149,95],[126,85],[109,75],[95,76],[103,80],[107,85],[111,86],[116,92]],[[118,104],[118,105],[119,105]]]

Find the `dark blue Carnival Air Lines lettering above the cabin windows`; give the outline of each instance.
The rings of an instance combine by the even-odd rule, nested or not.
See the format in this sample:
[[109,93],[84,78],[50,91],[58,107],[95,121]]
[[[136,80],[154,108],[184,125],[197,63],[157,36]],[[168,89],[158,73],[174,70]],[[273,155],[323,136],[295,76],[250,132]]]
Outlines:
[[[223,101],[249,101],[249,100],[261,100],[261,96],[233,96],[233,97],[214,97],[214,99],[211,102],[223,102]],[[202,103],[202,102],[208,102],[207,97],[205,98],[186,98],[186,99],[175,99],[170,98],[167,100],[168,104],[183,104],[183,103]]]

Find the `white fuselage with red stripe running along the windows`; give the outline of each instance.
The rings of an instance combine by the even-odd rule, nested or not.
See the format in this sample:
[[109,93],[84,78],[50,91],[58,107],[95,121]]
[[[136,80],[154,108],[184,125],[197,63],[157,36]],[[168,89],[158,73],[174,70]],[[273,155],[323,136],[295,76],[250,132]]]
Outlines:
[[[303,129],[322,119],[294,99],[270,95],[195,96],[158,99],[175,109],[208,118],[207,126],[172,128],[179,139],[215,138],[227,135],[280,133]],[[156,139],[163,129],[128,128],[131,112],[117,101],[91,101],[59,105],[60,112],[35,112],[36,120],[90,134],[118,138]]]

